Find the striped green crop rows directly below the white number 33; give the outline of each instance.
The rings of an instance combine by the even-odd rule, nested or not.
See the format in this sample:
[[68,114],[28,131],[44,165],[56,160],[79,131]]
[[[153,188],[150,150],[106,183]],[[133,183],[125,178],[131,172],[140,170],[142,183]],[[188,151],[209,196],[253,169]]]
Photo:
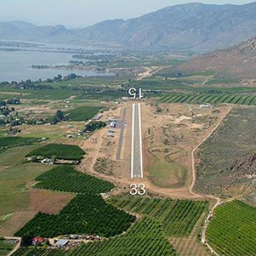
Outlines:
[[168,236],[188,236],[197,220],[207,210],[207,201],[153,199],[118,195],[109,202],[121,209],[154,217],[163,224]]

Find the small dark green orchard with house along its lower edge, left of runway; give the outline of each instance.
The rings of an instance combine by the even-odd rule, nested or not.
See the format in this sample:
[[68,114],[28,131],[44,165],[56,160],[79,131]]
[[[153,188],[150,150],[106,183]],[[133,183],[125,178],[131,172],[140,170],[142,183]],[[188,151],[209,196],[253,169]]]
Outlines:
[[27,156],[42,156],[44,158],[57,158],[63,160],[81,160],[84,157],[84,150],[74,145],[47,144],[38,148]]

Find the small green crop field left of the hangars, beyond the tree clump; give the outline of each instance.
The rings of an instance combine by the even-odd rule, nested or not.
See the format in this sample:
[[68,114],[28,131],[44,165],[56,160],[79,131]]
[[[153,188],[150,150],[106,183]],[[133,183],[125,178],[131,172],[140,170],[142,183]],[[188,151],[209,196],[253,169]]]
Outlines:
[[101,109],[102,106],[79,106],[65,112],[65,118],[69,121],[85,121],[92,119]]

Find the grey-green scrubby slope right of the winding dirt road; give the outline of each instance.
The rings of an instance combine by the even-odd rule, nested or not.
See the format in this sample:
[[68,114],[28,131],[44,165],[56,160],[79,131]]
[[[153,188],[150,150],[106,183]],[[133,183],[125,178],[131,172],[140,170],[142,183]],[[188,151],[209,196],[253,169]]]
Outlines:
[[[255,195],[253,179],[249,178],[253,174],[256,152],[255,121],[256,108],[233,108],[220,127],[199,147],[195,183],[199,193],[231,197],[251,187],[249,193]],[[250,203],[256,205],[253,196]]]

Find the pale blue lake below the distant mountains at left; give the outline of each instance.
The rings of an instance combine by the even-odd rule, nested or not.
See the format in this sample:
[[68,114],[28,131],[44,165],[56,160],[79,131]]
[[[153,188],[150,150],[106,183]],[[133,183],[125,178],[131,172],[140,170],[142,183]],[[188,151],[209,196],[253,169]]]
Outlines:
[[109,75],[94,71],[71,71],[63,69],[32,69],[31,65],[63,65],[72,59],[71,53],[45,53],[31,51],[0,51],[0,82],[26,79],[46,79],[56,75]]

